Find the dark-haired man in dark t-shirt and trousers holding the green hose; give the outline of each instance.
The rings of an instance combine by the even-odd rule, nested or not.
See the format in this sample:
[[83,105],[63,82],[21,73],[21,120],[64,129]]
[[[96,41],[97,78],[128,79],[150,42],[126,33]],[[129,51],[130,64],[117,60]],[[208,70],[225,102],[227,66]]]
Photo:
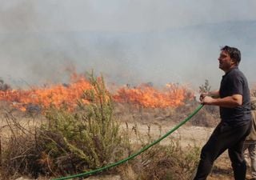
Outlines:
[[241,54],[237,48],[222,47],[218,62],[225,74],[220,88],[200,96],[202,104],[220,107],[221,122],[202,147],[194,180],[205,180],[214,160],[225,150],[228,150],[232,162],[234,179],[244,180],[246,177],[242,147],[251,128],[250,90],[246,77],[238,69],[240,60]]

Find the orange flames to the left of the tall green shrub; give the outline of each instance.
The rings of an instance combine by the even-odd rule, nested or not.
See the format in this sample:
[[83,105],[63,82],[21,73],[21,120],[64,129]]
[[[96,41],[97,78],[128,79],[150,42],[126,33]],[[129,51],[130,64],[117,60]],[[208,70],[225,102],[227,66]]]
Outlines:
[[[42,108],[48,108],[51,105],[60,107],[66,104],[69,110],[73,110],[78,100],[82,98],[84,90],[89,90],[91,85],[82,76],[73,75],[72,81],[66,86],[55,85],[32,90],[0,90],[0,100],[12,102],[13,106],[19,110],[26,110],[29,104],[39,105]],[[88,103],[86,99],[82,99],[82,102]]]

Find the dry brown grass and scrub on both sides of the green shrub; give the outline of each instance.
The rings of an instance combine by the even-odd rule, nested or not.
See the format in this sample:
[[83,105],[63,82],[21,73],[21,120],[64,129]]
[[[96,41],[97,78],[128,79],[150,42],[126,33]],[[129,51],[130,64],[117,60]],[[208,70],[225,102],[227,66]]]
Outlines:
[[[196,106],[198,103],[188,102],[186,106],[174,109],[146,109],[130,104],[115,104],[113,116],[120,119],[122,124],[126,124],[121,132],[129,135],[123,139],[126,141],[126,144],[123,145],[125,147],[123,150],[126,150],[123,152],[123,156],[136,152],[142,146],[164,134],[166,126],[171,127],[177,124],[186,118],[186,115],[192,112]],[[70,117],[70,114],[67,114],[67,117]],[[204,108],[187,125],[214,126],[216,119],[218,119],[216,117],[216,110]],[[47,129],[48,131],[43,131],[45,138],[39,138],[42,129],[38,129],[38,127],[41,127],[42,122],[47,122],[49,125],[46,118],[38,114],[24,114],[7,108],[2,110],[0,121],[2,121],[2,167],[0,168],[2,179],[15,179],[21,175],[30,178],[43,175],[47,179],[48,176],[56,177],[85,170],[81,168],[82,166],[78,167],[81,162],[78,161],[78,156],[75,154],[79,154],[80,151],[75,150],[73,154],[67,155],[70,148],[66,148],[63,134],[56,134],[57,129],[53,129],[54,131]],[[146,127],[146,130],[140,130],[140,125]],[[155,128],[154,131],[153,127]],[[207,135],[200,136],[206,138]],[[188,129],[187,137],[191,138],[191,136],[191,129]],[[194,142],[189,139],[190,145],[188,143],[182,145],[183,141],[184,139],[180,138],[179,135],[168,138],[166,144],[154,146],[138,158],[103,174],[110,174],[110,177],[119,175],[115,178],[120,177],[124,180],[190,179],[198,163],[201,144],[196,146],[199,141],[197,138],[194,139]],[[48,142],[52,143],[49,144]],[[57,142],[59,147],[55,151],[56,146],[53,144]],[[81,149],[81,146],[78,147]],[[54,158],[56,152],[62,152],[58,161]],[[56,168],[56,166],[61,167],[61,169]],[[107,177],[109,178],[109,176]],[[230,177],[232,177],[232,170],[230,170],[228,158],[222,157],[215,163],[209,179],[232,179]],[[102,178],[101,174],[91,179],[107,178]]]

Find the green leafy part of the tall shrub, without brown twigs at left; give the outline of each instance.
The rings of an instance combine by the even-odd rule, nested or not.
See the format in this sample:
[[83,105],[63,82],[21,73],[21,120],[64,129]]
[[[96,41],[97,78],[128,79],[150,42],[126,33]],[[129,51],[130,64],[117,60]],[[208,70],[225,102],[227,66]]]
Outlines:
[[90,75],[89,79],[92,88],[82,98],[90,103],[78,102],[76,113],[51,108],[46,114],[49,124],[41,128],[44,150],[51,152],[54,168],[62,173],[65,162],[74,167],[69,166],[71,171],[90,170],[116,162],[126,150],[103,78]]

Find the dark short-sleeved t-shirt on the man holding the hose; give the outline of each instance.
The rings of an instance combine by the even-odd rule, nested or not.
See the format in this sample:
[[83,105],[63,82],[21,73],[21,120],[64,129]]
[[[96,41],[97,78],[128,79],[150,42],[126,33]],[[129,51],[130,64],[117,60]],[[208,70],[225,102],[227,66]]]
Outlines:
[[220,98],[234,94],[242,95],[242,106],[234,108],[220,107],[222,122],[227,122],[230,126],[241,126],[250,121],[250,90],[246,77],[238,70],[238,67],[222,76],[219,94]]

